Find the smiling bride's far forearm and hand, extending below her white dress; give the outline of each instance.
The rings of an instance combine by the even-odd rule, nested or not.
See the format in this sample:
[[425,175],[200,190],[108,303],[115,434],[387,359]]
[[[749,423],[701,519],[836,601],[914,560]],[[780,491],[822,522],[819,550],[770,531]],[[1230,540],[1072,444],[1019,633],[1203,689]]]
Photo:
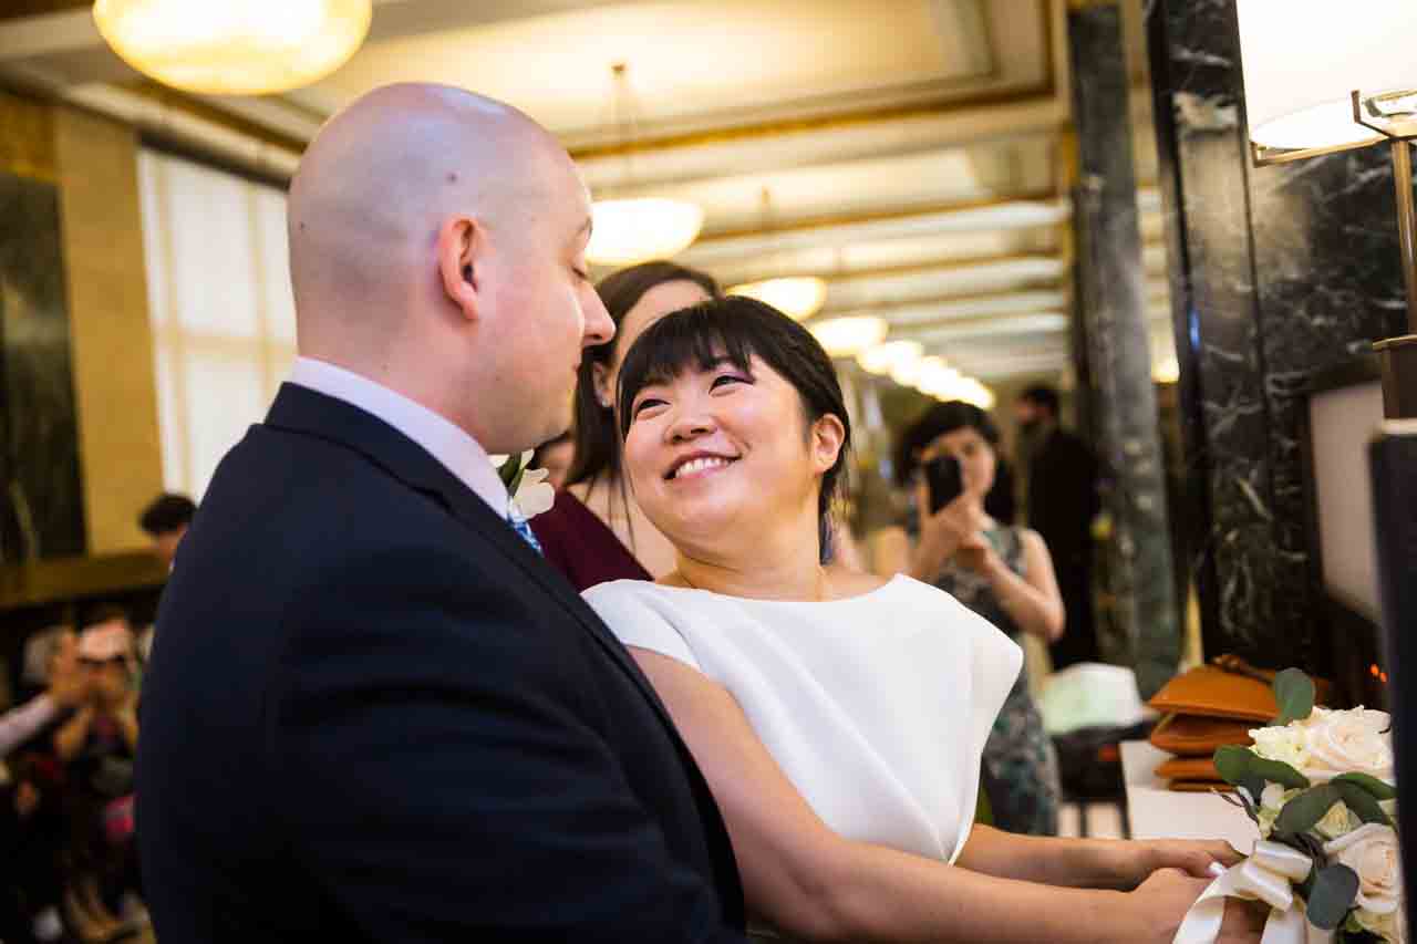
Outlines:
[[1180,869],[1200,877],[1207,875],[1206,869],[1212,862],[1230,866],[1243,858],[1223,839],[1053,839],[975,826],[956,865],[1002,879],[1076,889],[1129,890],[1156,869]]

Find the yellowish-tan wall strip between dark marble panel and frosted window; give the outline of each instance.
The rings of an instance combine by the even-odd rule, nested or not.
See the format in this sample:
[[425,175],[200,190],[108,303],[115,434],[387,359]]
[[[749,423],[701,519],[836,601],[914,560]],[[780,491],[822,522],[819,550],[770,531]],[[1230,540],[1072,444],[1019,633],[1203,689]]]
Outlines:
[[106,554],[146,544],[163,488],[137,135],[64,106],[52,123],[88,549]]

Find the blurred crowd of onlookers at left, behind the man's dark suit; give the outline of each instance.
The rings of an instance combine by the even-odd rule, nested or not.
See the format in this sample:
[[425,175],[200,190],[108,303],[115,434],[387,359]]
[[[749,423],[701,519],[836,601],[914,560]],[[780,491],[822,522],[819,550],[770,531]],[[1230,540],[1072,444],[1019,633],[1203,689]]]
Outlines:
[[[196,506],[163,495],[140,516],[171,566]],[[24,645],[0,714],[0,941],[116,941],[146,924],[133,824],[137,700],[153,628],[108,602]]]

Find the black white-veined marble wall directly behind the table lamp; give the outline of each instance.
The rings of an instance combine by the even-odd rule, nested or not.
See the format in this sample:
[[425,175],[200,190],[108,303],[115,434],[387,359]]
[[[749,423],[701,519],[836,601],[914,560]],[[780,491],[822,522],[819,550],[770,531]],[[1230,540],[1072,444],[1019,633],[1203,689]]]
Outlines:
[[1298,410],[1403,323],[1389,154],[1251,167],[1234,0],[1146,18],[1206,649],[1321,669]]

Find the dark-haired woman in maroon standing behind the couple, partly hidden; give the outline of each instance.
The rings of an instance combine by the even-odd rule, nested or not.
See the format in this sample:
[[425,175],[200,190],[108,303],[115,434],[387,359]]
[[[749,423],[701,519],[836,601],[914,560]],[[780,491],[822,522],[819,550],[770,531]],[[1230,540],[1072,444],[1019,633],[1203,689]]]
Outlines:
[[608,580],[653,580],[674,568],[674,547],[631,496],[621,468],[615,384],[625,352],[670,312],[718,298],[718,283],[674,262],[621,269],[595,286],[615,337],[591,347],[575,386],[575,459],[555,505],[531,519],[551,563],[577,590]]

